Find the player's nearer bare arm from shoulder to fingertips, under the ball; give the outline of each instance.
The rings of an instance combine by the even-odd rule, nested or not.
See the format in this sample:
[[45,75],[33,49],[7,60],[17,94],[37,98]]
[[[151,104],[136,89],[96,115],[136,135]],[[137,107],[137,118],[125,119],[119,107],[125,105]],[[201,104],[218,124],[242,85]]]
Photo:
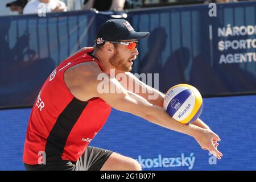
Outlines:
[[[72,72],[76,72],[76,76],[69,78],[68,75],[73,75]],[[107,76],[105,80],[98,80],[100,74]],[[194,137],[201,148],[207,148],[218,159],[221,158],[221,152],[214,147],[212,142],[213,140],[220,140],[216,134],[195,125],[184,125],[176,122],[162,107],[153,105],[142,96],[123,88],[117,79],[103,73],[96,63],[80,64],[75,68],[70,68],[65,75],[67,75],[64,78],[69,90],[79,100],[86,101],[93,97],[100,97],[117,110],[137,115],[156,125]],[[74,80],[76,81],[74,82]],[[115,88],[115,92],[110,93],[109,90],[107,93],[100,93],[98,85],[102,81],[108,82],[109,89]]]

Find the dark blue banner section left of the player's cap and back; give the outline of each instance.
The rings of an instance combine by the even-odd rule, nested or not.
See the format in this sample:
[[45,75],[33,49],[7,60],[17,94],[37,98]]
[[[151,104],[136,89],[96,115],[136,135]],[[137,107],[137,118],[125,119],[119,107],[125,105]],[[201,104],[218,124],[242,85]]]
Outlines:
[[0,107],[32,105],[55,67],[93,44],[95,13],[0,17]]

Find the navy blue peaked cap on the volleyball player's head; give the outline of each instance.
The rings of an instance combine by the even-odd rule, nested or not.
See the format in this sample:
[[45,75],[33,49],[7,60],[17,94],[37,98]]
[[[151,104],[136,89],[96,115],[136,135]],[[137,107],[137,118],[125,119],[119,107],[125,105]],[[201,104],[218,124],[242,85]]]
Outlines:
[[146,38],[149,32],[135,32],[130,23],[125,19],[109,19],[102,24],[98,30],[96,44],[102,44],[102,41],[119,41],[129,39]]

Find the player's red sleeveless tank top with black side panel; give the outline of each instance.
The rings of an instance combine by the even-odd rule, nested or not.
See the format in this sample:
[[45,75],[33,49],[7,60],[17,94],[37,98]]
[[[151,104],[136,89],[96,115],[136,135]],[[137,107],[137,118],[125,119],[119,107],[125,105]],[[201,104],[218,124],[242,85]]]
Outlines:
[[76,162],[105,124],[111,107],[101,98],[78,100],[64,82],[64,72],[76,64],[96,61],[101,68],[88,55],[92,51],[88,48],[64,60],[44,82],[28,122],[24,163],[39,164],[42,159]]

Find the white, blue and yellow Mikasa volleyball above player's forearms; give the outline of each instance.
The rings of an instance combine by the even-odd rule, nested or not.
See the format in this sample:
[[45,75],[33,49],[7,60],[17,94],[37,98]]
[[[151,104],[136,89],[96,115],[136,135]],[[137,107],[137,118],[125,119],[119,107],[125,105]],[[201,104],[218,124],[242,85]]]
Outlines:
[[188,124],[200,117],[203,110],[203,98],[194,86],[179,84],[167,91],[163,107],[176,121]]

